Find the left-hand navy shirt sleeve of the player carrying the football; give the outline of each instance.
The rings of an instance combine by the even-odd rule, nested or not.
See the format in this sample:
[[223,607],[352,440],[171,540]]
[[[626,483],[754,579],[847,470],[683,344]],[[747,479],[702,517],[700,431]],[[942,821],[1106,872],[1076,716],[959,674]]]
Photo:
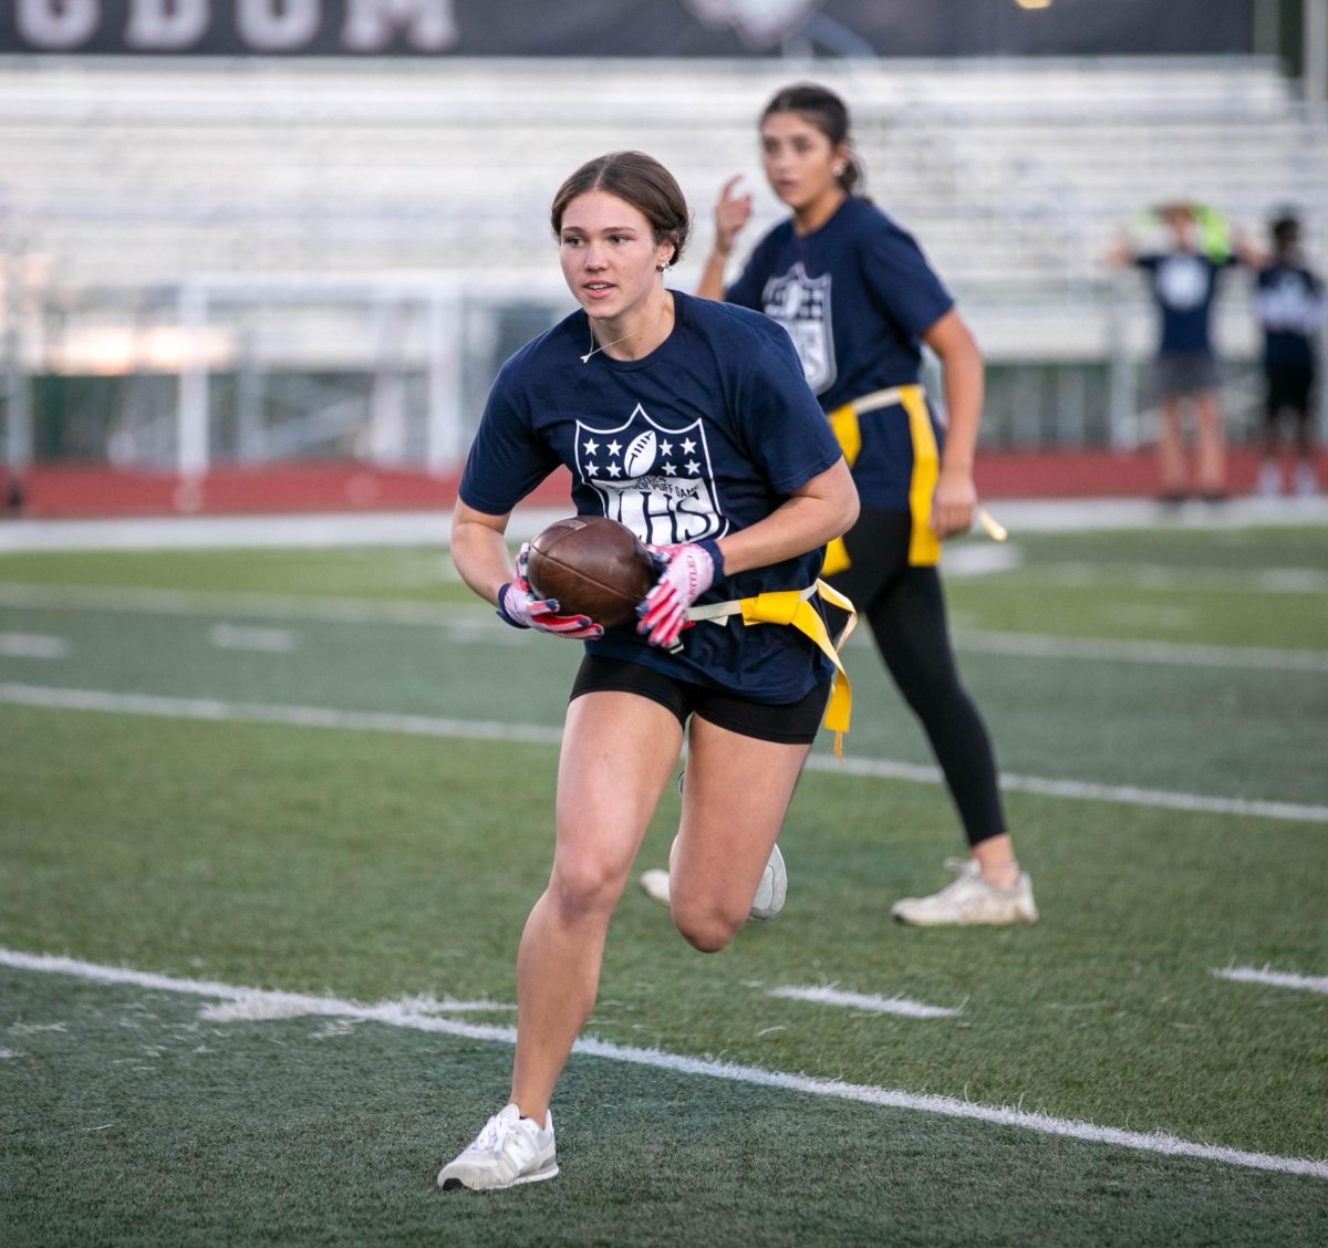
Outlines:
[[535,434],[522,400],[509,361],[489,392],[457,490],[467,507],[485,515],[506,515],[558,467],[556,454]]

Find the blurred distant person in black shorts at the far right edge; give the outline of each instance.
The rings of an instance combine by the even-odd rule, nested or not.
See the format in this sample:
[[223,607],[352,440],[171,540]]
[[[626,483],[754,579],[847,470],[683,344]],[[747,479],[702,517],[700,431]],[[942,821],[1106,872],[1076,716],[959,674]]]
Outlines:
[[1267,498],[1282,493],[1279,422],[1287,412],[1296,424],[1292,489],[1301,498],[1309,498],[1319,489],[1311,394],[1316,372],[1315,331],[1324,319],[1323,283],[1305,267],[1300,254],[1300,222],[1295,216],[1279,216],[1271,234],[1272,256],[1259,270],[1256,289],[1267,382],[1259,493]]

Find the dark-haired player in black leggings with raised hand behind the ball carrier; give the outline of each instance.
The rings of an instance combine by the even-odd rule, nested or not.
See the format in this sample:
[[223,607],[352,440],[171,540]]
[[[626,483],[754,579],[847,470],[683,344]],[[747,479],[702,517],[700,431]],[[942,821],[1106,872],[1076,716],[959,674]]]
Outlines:
[[[967,532],[976,510],[981,356],[914,239],[855,194],[861,173],[839,97],[814,84],[785,88],[760,130],[766,178],[793,216],[724,288],[752,210],[732,179],[699,293],[762,311],[789,331],[862,501],[857,526],[831,543],[826,572],[871,624],[964,824],[969,858],[952,863],[959,878],[896,901],[892,913],[932,925],[1031,923],[1032,884],[1015,859],[987,728],[959,682],[938,572],[942,539]],[[943,369],[944,431],[918,385],[923,343]],[[641,883],[667,896],[657,872]]]

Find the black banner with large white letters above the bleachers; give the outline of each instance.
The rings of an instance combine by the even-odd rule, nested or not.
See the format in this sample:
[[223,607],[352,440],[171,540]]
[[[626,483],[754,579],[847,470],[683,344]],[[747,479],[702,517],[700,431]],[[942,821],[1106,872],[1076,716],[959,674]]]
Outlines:
[[1248,52],[1252,0],[0,0],[0,53],[992,56]]

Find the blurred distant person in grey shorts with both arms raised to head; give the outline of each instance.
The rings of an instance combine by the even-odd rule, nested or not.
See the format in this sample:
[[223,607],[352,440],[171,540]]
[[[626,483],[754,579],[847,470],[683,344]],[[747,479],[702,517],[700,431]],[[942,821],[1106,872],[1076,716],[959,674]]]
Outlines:
[[1161,340],[1153,372],[1154,398],[1162,406],[1158,434],[1161,497],[1178,503],[1190,494],[1186,470],[1182,404],[1194,405],[1197,417],[1195,486],[1207,502],[1227,497],[1227,439],[1218,402],[1218,361],[1210,324],[1218,277],[1239,263],[1227,231],[1211,210],[1171,203],[1157,210],[1170,235],[1170,246],[1135,251],[1121,239],[1112,263],[1135,266],[1153,279],[1153,297],[1161,319]]

